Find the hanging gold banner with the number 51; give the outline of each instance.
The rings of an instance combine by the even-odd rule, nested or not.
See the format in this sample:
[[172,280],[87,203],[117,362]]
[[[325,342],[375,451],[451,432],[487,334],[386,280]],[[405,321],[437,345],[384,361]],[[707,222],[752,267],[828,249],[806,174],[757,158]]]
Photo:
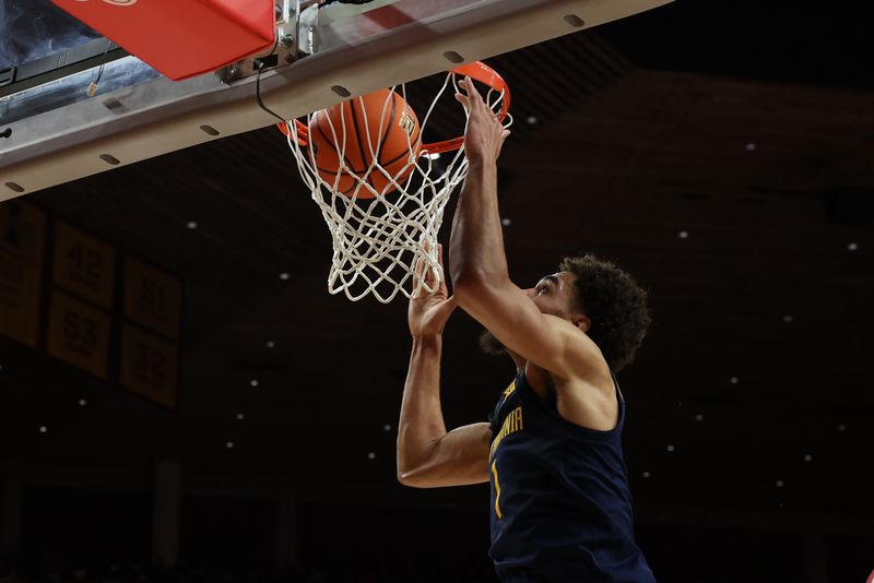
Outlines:
[[132,257],[125,260],[125,317],[169,338],[179,336],[179,279]]

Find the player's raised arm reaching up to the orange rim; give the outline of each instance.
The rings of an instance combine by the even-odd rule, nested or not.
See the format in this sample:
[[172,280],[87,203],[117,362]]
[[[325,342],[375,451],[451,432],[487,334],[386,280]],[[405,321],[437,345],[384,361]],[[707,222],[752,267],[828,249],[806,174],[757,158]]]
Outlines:
[[470,79],[461,82],[461,88],[464,94],[456,97],[470,114],[464,134],[469,171],[449,248],[458,304],[525,360],[559,377],[587,376],[584,369],[598,366],[601,358],[594,344],[579,333],[583,321],[542,313],[510,281],[497,201],[497,158],[508,132]]

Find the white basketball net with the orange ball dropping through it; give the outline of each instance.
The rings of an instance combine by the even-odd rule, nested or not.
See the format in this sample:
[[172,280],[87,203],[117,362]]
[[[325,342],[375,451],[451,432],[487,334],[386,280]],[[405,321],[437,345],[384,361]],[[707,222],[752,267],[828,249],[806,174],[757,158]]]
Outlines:
[[[375,108],[370,102],[369,115],[379,110],[378,121],[367,119],[368,109],[363,98],[356,97],[357,106],[349,107],[351,100],[346,107],[334,107],[332,115],[327,115],[327,110],[310,114],[306,124],[297,129],[294,123],[288,124],[288,145],[331,234],[333,257],[328,275],[331,294],[343,291],[353,301],[373,294],[387,304],[399,291],[409,298],[423,290],[433,293],[440,285],[444,274],[437,259],[437,234],[450,194],[466,176],[468,162],[463,146],[456,145],[454,152],[441,155],[435,151],[439,147],[428,148],[444,143],[421,142],[440,97],[446,93],[452,98],[459,91],[456,81],[454,73],[446,75],[425,117],[421,118],[418,133],[406,133],[408,148],[401,159],[386,164],[389,168],[379,164],[378,158],[388,134],[386,126],[394,119],[394,94],[403,97],[401,103],[406,102],[404,84],[385,92],[386,97],[380,97],[381,108]],[[504,95],[505,92],[489,90],[486,103],[497,111]],[[454,103],[461,110],[461,105]],[[363,121],[350,119],[361,115],[365,117]],[[507,116],[505,124],[509,123]],[[321,164],[317,165],[319,157],[311,139],[315,131],[323,136],[322,147],[324,142],[335,147],[339,169],[326,171]],[[359,134],[356,141],[346,139],[353,131]],[[308,132],[307,139],[302,139],[303,132]],[[352,147],[357,151],[346,152]],[[364,160],[366,168],[353,168],[356,163],[351,157],[357,164]],[[413,277],[418,259],[435,274],[430,286],[426,278]]]

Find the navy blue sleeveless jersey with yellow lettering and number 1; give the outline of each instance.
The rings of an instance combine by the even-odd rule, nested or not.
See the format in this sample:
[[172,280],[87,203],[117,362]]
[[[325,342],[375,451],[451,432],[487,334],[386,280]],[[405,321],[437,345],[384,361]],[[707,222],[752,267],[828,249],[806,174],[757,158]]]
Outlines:
[[504,391],[488,417],[488,555],[505,583],[656,581],[634,540],[618,385],[616,398],[616,427],[597,431],[542,403],[524,372]]

